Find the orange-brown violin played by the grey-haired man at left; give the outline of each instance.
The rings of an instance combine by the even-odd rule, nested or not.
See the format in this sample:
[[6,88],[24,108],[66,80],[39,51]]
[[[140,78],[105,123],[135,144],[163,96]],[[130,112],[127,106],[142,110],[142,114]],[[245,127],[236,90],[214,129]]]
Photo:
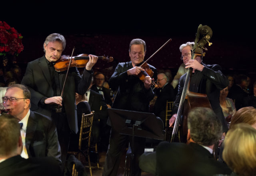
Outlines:
[[[71,59],[71,62],[70,62]],[[112,62],[114,60],[113,57],[106,56],[98,56],[98,59],[102,59],[106,62]],[[82,68],[85,67],[87,62],[89,61],[88,54],[79,54],[78,56],[70,57],[67,55],[62,55],[59,60],[57,60],[54,64],[54,68],[57,72],[62,72],[68,70],[68,66],[70,63],[70,67]]]

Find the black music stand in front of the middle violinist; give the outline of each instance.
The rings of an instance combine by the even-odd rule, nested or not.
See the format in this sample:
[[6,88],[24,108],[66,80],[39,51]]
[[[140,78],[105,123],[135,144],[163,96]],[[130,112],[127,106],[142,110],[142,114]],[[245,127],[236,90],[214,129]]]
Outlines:
[[[108,109],[111,126],[120,134],[132,136],[131,162],[134,159],[134,136],[164,140],[164,127],[160,118],[147,112]],[[162,124],[160,123],[162,122]],[[132,167],[130,173],[132,173]]]

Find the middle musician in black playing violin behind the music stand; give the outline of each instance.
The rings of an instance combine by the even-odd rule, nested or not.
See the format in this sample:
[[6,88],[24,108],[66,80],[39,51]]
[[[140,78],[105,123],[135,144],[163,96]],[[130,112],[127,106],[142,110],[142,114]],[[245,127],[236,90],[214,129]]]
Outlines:
[[[146,76],[144,82],[140,80],[138,74],[144,69],[139,66],[146,54],[146,43],[142,39],[133,39],[130,42],[129,56],[130,62],[122,62],[116,66],[112,74],[109,85],[112,90],[118,90],[112,108],[122,110],[133,110],[149,112],[149,102],[154,98],[151,88],[152,78]],[[153,78],[157,79],[157,70],[149,65],[154,72]],[[108,120],[108,123],[110,119]],[[110,134],[110,146],[106,155],[103,176],[116,175],[120,164],[120,157],[123,148],[126,147],[127,135],[119,134],[112,128]],[[144,152],[145,138],[135,137],[134,139],[134,175],[140,175],[138,167],[138,157]]]

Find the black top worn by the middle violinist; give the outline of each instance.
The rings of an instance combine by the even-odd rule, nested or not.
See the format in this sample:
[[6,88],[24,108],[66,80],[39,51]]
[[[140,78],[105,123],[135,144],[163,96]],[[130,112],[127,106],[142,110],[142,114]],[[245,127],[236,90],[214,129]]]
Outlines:
[[[112,108],[148,112],[154,92],[152,88],[146,90],[138,76],[128,76],[127,70],[132,67],[132,62],[119,63],[109,79],[110,88],[118,90]],[[154,80],[157,80],[156,68],[151,65],[149,68],[154,72]]]

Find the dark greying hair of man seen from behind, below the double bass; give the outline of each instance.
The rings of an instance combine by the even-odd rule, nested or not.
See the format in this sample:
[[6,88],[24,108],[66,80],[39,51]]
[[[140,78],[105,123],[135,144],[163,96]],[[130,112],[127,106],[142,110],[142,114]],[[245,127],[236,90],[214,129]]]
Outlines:
[[210,108],[194,108],[188,113],[188,129],[194,142],[204,146],[215,144],[221,137],[222,125]]

